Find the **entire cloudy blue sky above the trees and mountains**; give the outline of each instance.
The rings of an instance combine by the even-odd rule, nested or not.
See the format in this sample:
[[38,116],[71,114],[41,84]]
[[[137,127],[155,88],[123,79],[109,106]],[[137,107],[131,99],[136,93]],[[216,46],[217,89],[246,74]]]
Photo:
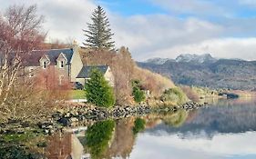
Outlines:
[[9,5],[37,5],[45,16],[47,41],[85,40],[97,5],[107,12],[117,48],[133,58],[176,58],[210,54],[256,60],[256,0],[0,0]]

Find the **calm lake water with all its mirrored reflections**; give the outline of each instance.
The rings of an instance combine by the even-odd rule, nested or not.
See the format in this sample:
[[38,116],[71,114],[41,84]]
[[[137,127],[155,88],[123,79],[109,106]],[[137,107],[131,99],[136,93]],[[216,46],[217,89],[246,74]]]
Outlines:
[[255,100],[210,103],[191,112],[108,120],[87,131],[57,134],[48,144],[48,157],[255,159]]

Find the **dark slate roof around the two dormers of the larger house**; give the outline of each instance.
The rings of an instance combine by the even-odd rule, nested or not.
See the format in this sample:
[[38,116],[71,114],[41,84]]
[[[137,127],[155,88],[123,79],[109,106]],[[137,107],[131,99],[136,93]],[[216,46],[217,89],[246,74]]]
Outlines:
[[70,61],[74,51],[72,48],[66,49],[52,49],[52,50],[35,50],[26,59],[26,66],[38,66],[39,60],[43,55],[47,55],[50,59],[50,65],[56,65],[56,59],[60,54],[63,54],[67,58],[67,65],[70,65]]

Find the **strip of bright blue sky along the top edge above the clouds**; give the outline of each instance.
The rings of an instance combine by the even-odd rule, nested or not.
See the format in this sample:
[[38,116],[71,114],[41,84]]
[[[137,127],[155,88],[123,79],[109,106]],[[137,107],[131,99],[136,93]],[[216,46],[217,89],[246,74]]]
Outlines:
[[[160,0],[161,1],[161,0]],[[193,1],[193,0],[192,0]],[[163,1],[162,1],[163,2]],[[168,2],[168,1],[167,1]],[[186,0],[184,1],[186,2]],[[189,2],[189,1],[187,1]],[[191,2],[191,1],[190,1]],[[196,1],[194,1],[196,2]],[[251,18],[256,17],[256,1],[255,3],[253,0],[244,0],[237,1],[237,0],[201,0],[197,1],[201,4],[208,4],[215,6],[216,8],[222,8],[225,10],[225,13],[230,13],[230,15],[233,15],[233,18]],[[178,0],[172,1],[170,3],[166,3],[168,5],[174,5],[175,3],[179,3]],[[157,3],[157,1],[154,0],[98,0],[96,1],[97,5],[104,5],[108,7],[113,12],[117,12],[120,15],[129,16],[129,15],[153,15],[153,14],[165,14],[165,15],[177,15],[179,17],[188,17],[188,16],[200,16],[204,18],[216,18],[221,17],[219,14],[217,15],[204,15],[204,14],[197,14],[197,13],[191,13],[191,11],[172,11],[171,9],[168,9],[168,6],[164,3]],[[251,5],[252,4],[252,5]],[[255,5],[255,6],[254,6]],[[203,6],[203,5],[202,5]],[[181,6],[182,7],[182,6]],[[202,9],[202,8],[195,8],[195,9]]]

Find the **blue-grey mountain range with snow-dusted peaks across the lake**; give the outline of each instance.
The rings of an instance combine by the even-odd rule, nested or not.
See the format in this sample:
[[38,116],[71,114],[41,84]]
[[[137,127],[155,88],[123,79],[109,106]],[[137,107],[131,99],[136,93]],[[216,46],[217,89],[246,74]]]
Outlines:
[[175,60],[169,59],[164,63],[139,62],[138,66],[166,75],[176,84],[241,90],[256,88],[256,61],[179,55]]

